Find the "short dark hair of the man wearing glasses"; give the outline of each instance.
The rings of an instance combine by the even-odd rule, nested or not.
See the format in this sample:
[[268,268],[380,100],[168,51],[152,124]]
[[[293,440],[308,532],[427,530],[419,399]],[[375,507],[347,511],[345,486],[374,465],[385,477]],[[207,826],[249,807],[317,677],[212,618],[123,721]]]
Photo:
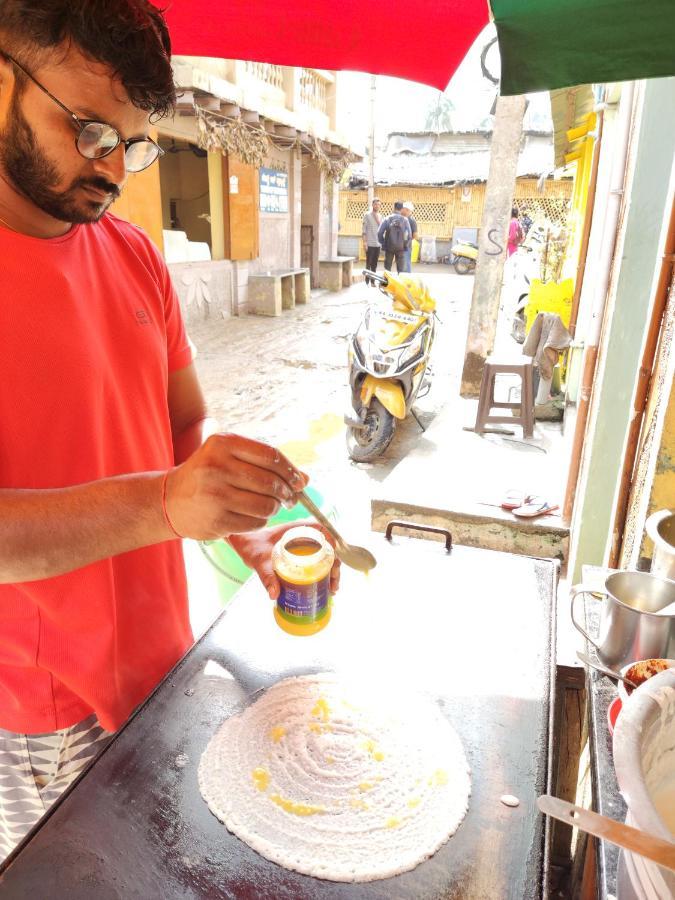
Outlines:
[[148,0],[0,0],[0,50],[29,71],[70,45],[109,66],[134,106],[155,118],[173,111],[169,31]]

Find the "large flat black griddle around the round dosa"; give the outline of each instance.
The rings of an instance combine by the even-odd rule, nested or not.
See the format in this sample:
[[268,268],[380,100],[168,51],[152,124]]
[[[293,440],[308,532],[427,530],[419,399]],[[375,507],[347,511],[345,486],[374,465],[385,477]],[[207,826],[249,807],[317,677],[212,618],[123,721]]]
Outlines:
[[[542,896],[551,561],[372,535],[378,568],[343,572],[333,620],[298,638],[257,580],[167,676],[0,870],[3,898],[529,900]],[[148,622],[147,627],[152,628]],[[321,881],[267,861],[209,812],[199,758],[220,723],[286,676],[357,670],[431,695],[466,750],[469,811],[395,878]],[[500,802],[515,794],[520,806]]]

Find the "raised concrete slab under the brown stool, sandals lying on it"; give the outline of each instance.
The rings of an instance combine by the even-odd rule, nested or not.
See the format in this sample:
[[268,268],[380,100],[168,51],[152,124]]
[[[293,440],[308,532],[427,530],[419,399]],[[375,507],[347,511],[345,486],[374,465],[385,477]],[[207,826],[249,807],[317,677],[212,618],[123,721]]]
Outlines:
[[569,526],[559,512],[522,519],[500,506],[510,490],[562,504],[567,447],[559,424],[536,423],[528,441],[517,425],[512,435],[478,435],[463,430],[467,422],[473,425],[475,409],[475,401],[453,401],[420,434],[417,447],[373,496],[373,529],[384,531],[392,519],[436,525],[449,529],[458,544],[564,565]]

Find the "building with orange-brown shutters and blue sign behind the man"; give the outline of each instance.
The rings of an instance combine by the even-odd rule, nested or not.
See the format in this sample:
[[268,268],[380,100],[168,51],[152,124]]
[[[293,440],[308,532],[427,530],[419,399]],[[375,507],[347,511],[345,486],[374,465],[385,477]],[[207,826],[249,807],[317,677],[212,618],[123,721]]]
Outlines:
[[159,165],[114,211],[163,251],[183,313],[246,311],[251,274],[337,253],[334,189],[356,154],[337,122],[338,74],[175,57],[178,108],[156,125]]

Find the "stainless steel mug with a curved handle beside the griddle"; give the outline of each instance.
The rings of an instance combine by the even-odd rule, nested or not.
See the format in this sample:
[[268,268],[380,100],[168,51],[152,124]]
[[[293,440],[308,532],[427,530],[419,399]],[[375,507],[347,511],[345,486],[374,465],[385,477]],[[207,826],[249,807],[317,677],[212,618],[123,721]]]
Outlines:
[[613,669],[638,659],[675,656],[675,613],[658,612],[675,603],[675,581],[649,572],[614,572],[602,591],[600,627],[591,637],[574,616],[574,601],[580,594],[600,593],[597,588],[572,588],[571,614],[575,628]]

